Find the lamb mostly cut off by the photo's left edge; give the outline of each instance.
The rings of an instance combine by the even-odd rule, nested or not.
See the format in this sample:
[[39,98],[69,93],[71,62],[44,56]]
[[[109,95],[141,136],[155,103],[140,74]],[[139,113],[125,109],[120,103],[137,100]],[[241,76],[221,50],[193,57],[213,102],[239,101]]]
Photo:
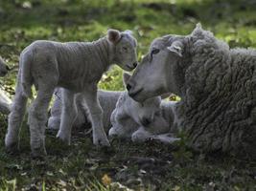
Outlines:
[[[0,76],[5,76],[9,70],[9,67],[0,56]],[[11,110],[11,104],[12,100],[5,95],[4,91],[0,90],[0,112],[3,114],[9,114]]]

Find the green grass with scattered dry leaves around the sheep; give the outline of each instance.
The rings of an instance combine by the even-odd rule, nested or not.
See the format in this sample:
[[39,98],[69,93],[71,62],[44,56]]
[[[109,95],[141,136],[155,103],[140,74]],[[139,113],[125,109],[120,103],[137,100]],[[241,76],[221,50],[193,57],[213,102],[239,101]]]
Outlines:
[[[256,48],[253,0],[2,0],[0,54],[16,67],[19,53],[36,39],[94,40],[109,28],[131,30],[138,55],[151,40],[167,33],[188,34],[201,22],[230,47]],[[14,94],[17,70],[0,84]],[[113,67],[100,87],[123,90],[122,71]],[[99,149],[83,131],[66,147],[47,132],[48,156],[30,158],[29,130],[21,131],[20,154],[4,150],[7,117],[0,117],[0,190],[255,190],[255,161],[220,154],[195,154],[184,146],[159,142],[135,144],[113,139]],[[125,186],[126,185],[126,186]]]

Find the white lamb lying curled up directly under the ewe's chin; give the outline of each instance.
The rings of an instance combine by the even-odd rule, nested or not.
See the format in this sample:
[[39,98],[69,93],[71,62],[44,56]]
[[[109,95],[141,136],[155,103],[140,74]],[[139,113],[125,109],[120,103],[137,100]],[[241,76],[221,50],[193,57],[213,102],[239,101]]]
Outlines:
[[[129,77],[129,74],[124,75],[126,85]],[[174,106],[174,101],[161,101],[160,96],[151,97],[140,103],[128,96],[126,91],[119,97],[112,112],[112,127],[108,135],[131,138],[132,141],[139,142],[149,138],[169,143],[178,140],[169,137],[174,131]]]

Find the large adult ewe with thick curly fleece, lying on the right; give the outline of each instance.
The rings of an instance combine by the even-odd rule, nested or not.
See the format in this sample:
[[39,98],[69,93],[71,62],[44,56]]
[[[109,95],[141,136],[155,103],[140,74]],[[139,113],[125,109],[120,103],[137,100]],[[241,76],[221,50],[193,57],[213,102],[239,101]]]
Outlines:
[[180,96],[175,125],[196,151],[255,159],[255,73],[255,50],[230,49],[198,24],[189,35],[154,39],[127,88],[137,101]]

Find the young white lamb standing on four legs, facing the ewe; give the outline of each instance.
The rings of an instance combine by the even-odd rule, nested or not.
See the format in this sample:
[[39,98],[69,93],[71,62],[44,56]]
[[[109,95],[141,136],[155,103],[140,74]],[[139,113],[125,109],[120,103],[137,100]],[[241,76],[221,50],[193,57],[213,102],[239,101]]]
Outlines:
[[57,137],[70,144],[72,123],[76,117],[74,97],[81,93],[90,112],[93,143],[109,146],[103,127],[102,108],[97,98],[97,84],[112,64],[126,71],[137,65],[136,39],[130,32],[108,30],[94,42],[37,40],[20,54],[19,71],[12,112],[9,116],[5,145],[8,152],[18,148],[19,128],[32,98],[32,85],[37,96],[29,109],[32,157],[43,157],[45,124],[49,102],[56,87],[62,87],[62,112]]

